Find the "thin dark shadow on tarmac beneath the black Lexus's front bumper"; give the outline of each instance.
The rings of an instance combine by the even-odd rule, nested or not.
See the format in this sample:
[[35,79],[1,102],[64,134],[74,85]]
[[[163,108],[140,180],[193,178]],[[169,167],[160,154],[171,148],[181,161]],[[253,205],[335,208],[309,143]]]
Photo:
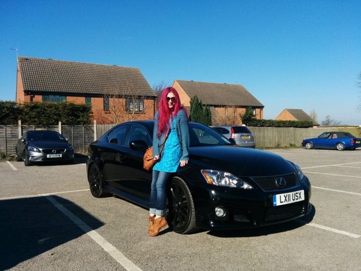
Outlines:
[[[302,227],[307,223],[310,223],[316,213],[315,207],[312,205],[311,211],[308,215],[298,218],[296,220],[291,220],[288,222],[283,222],[274,225],[263,226],[260,228],[251,228],[251,229],[237,229],[237,230],[224,230],[224,231],[215,231],[211,230],[207,234],[222,237],[222,238],[232,238],[232,237],[255,237],[255,236],[264,236],[269,234],[280,233],[284,231],[294,230],[296,228]],[[299,222],[297,222],[299,221]]]

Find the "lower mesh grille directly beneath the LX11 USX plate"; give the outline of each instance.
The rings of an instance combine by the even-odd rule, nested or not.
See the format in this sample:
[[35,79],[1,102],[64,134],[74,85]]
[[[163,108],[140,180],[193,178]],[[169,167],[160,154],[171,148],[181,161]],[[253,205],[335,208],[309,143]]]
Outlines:
[[301,201],[282,206],[266,207],[264,221],[280,220],[300,215],[304,210],[303,204],[304,202]]

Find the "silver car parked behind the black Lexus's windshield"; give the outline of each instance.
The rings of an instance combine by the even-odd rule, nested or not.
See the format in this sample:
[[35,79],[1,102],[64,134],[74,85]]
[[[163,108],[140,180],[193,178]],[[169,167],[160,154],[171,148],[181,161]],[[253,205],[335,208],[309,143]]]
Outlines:
[[228,139],[234,139],[236,144],[247,148],[256,148],[252,132],[246,126],[212,126]]

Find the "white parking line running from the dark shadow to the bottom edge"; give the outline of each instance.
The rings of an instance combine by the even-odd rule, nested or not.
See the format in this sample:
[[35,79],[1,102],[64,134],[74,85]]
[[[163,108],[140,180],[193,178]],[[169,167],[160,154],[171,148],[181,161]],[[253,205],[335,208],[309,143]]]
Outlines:
[[117,262],[119,262],[125,269],[127,270],[140,270],[141,269],[135,265],[132,261],[130,261],[127,257],[124,256],[115,246],[109,243],[106,239],[104,239],[99,233],[85,224],[79,217],[74,215],[68,209],[66,209],[63,205],[61,205],[58,201],[56,201],[51,196],[46,196],[46,198],[54,204],[55,207],[59,209],[63,214],[70,218],[79,228],[81,228],[87,235],[90,236],[95,242],[97,242],[106,252],[109,253]]

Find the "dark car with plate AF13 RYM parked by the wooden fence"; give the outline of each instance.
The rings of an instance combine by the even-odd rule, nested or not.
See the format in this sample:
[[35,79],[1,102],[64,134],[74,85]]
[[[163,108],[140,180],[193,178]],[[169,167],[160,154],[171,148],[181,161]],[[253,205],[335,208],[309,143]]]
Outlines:
[[16,161],[24,160],[25,166],[45,161],[74,162],[74,148],[57,131],[36,130],[27,131],[18,140]]

